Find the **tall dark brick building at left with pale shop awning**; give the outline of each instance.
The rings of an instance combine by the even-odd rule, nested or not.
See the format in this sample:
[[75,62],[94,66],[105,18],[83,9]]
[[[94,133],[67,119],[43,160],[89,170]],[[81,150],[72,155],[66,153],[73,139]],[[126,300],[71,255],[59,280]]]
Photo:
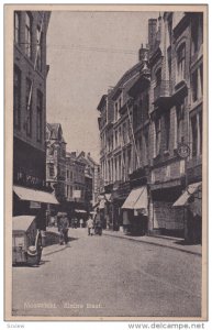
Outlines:
[[[51,12],[14,11],[13,215],[45,212],[46,33]],[[45,217],[41,216],[41,227]]]

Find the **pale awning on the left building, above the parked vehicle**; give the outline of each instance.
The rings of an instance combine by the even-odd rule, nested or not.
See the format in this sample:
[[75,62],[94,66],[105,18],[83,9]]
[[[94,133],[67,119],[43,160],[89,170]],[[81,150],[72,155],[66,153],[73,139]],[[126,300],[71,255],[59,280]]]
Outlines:
[[22,200],[38,201],[45,204],[58,204],[56,197],[49,193],[18,186],[13,186],[13,191]]

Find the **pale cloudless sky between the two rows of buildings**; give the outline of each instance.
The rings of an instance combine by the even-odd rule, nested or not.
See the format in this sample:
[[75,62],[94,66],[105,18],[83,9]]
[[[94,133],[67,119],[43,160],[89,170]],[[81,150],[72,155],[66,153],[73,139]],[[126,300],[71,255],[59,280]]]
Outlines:
[[62,124],[67,151],[99,161],[102,95],[138,62],[157,12],[53,11],[47,31],[47,122]]

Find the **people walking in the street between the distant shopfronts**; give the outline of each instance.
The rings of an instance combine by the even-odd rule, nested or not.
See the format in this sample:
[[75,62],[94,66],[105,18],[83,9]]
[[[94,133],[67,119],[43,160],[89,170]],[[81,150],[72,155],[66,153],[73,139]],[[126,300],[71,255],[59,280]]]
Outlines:
[[[78,223],[78,221],[77,221]],[[87,220],[87,228],[88,228],[88,235],[93,235],[93,234],[102,234],[102,223],[101,223],[101,219],[100,219],[100,212],[99,210],[97,210],[96,216],[92,219],[92,216],[90,215],[88,220]],[[75,222],[74,222],[75,224]],[[80,228],[83,227],[83,219],[81,219],[79,221]],[[68,243],[68,229],[69,229],[69,221],[67,218],[66,213],[62,213],[58,217],[58,221],[57,221],[57,227],[58,227],[58,232],[59,232],[59,244],[67,244]],[[71,227],[72,227],[72,222],[71,222]],[[72,227],[72,228],[77,228],[77,226]]]

